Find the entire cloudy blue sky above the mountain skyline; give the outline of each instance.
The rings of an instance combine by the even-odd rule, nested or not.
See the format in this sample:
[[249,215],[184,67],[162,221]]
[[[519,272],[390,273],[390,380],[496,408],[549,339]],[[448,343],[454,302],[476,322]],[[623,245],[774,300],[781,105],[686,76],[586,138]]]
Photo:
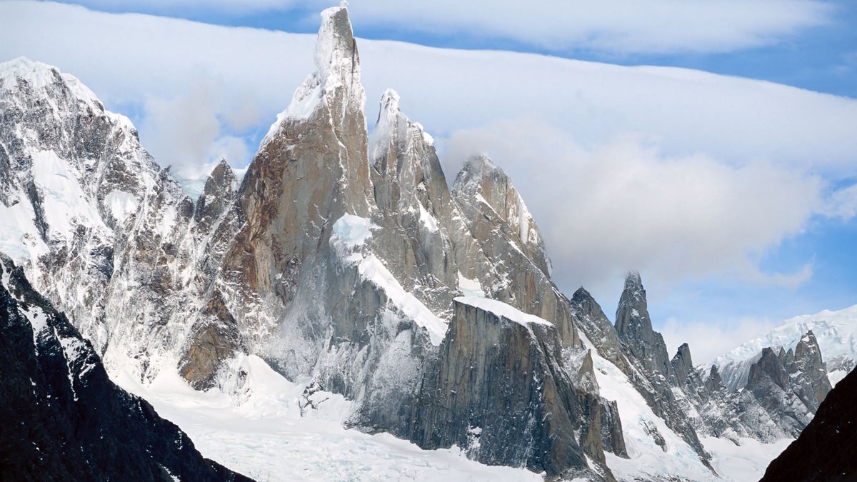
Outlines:
[[[330,6],[81,4],[160,18],[0,2],[0,61],[27,55],[79,76],[132,117],[159,162],[185,167],[219,155],[246,164],[312,70],[312,38],[163,17],[312,34]],[[608,316],[623,274],[639,269],[668,344],[689,340],[705,361],[783,318],[857,303],[857,2],[364,0],[350,12],[363,39],[699,69],[833,94],[361,46],[368,117],[376,86],[391,83],[437,140],[450,177],[466,155],[491,154],[540,223],[560,288],[586,286]],[[119,33],[99,36],[111,29]]]

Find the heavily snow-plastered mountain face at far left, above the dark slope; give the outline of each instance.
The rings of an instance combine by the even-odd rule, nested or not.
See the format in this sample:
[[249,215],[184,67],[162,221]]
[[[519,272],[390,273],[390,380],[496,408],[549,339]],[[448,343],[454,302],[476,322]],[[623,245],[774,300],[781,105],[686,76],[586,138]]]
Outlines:
[[[213,269],[195,264],[217,256],[207,229],[228,202],[215,198],[229,188],[210,186],[197,226],[194,202],[126,117],[43,63],[20,58],[0,71],[0,157],[9,160],[0,250],[22,263],[105,364],[152,377],[161,361],[171,365],[175,340],[186,338],[207,291]],[[220,174],[224,185],[230,175]]]

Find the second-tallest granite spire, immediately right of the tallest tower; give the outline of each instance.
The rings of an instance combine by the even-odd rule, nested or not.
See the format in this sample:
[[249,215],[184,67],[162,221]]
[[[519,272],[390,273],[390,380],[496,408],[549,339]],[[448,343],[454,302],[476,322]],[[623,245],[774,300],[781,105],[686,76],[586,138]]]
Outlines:
[[406,291],[435,313],[451,313],[458,288],[452,232],[465,231],[431,138],[399,111],[387,89],[373,132],[369,170],[380,229],[375,254]]

